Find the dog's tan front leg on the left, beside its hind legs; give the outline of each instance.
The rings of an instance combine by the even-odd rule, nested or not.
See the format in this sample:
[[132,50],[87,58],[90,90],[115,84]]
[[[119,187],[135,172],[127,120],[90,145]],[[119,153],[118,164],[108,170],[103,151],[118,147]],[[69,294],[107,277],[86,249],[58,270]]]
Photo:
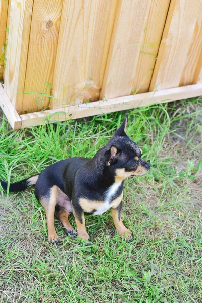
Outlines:
[[82,240],[90,240],[90,237],[86,231],[84,212],[82,208],[80,206],[73,207],[73,214],[76,220],[78,237],[80,237]]

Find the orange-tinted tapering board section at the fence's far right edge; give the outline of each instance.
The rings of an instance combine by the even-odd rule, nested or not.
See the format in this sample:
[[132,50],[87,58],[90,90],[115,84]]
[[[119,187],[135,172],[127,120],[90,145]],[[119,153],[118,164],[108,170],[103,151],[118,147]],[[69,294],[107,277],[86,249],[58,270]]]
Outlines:
[[[202,7],[198,15],[198,20],[195,24],[191,44],[187,54],[186,62],[182,72],[182,77],[179,86],[194,84],[195,71],[200,63],[200,55],[202,49]],[[201,68],[201,66],[200,66]]]

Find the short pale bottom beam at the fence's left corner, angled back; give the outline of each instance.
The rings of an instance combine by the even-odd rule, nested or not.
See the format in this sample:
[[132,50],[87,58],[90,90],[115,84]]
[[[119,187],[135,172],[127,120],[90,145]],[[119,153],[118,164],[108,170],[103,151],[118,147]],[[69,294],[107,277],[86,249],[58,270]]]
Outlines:
[[0,84],[0,106],[13,129],[20,129],[22,120]]

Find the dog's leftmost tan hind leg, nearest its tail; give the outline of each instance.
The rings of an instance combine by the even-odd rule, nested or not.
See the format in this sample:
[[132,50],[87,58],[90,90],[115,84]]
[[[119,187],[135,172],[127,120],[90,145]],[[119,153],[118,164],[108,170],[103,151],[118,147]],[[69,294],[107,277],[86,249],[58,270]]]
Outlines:
[[48,229],[48,241],[51,243],[58,242],[58,235],[56,233],[54,227],[54,212],[55,206],[57,203],[57,186],[53,186],[51,188],[51,194],[49,198],[43,198],[40,200],[40,203],[45,209],[46,212],[46,222],[47,222],[47,229]]

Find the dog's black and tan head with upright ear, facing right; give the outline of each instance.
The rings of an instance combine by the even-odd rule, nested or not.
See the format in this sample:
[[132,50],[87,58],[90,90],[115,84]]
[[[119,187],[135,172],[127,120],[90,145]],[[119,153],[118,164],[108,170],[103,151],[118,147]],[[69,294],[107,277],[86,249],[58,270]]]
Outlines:
[[126,135],[128,115],[108,142],[105,165],[115,174],[117,181],[129,176],[142,176],[150,169],[150,163],[142,159],[142,149]]

